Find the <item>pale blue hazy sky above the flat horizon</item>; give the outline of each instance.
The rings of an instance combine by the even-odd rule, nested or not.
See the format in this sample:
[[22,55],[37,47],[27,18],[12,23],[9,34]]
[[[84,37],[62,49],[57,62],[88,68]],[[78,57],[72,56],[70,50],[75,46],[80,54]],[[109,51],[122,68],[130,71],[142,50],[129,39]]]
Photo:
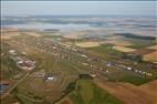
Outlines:
[[2,15],[157,15],[157,1],[1,1]]

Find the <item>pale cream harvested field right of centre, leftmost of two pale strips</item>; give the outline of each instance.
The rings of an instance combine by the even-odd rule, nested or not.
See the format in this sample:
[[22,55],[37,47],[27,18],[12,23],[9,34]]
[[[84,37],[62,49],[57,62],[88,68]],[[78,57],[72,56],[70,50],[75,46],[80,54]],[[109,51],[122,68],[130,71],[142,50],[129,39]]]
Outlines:
[[76,43],[76,45],[80,48],[94,48],[94,46],[100,46],[101,42],[80,42]]

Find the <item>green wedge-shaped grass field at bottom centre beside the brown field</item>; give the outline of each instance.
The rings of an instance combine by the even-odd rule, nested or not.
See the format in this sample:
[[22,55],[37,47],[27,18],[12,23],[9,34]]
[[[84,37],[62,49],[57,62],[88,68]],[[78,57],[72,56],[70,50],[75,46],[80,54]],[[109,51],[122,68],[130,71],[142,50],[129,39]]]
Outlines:
[[74,104],[122,104],[121,101],[97,87],[90,80],[80,80],[77,89],[71,93],[70,97]]

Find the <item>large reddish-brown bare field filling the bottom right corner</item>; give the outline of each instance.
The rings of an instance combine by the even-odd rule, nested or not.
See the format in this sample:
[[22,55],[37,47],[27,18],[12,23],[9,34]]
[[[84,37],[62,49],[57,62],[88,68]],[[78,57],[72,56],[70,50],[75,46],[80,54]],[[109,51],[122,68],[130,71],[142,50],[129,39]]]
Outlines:
[[129,83],[106,82],[97,79],[94,82],[124,102],[124,104],[157,104],[157,81],[142,86],[135,86]]

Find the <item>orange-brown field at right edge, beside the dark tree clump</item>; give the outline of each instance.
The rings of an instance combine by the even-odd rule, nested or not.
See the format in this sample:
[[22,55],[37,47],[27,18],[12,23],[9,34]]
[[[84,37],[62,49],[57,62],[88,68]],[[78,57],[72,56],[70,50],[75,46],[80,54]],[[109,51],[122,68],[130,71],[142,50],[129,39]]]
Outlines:
[[151,52],[151,53],[148,53],[148,54],[145,54],[143,56],[143,60],[144,61],[148,61],[148,62],[157,62],[157,51],[155,52]]

